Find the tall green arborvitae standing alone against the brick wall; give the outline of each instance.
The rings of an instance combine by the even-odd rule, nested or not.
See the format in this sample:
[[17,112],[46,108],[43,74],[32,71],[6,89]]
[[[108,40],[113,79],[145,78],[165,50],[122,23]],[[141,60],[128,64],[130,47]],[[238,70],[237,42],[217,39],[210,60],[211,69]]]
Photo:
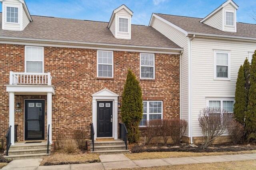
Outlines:
[[142,119],[143,104],[140,83],[132,70],[128,70],[122,94],[121,117],[128,131],[128,141],[136,143],[140,140],[139,124]]

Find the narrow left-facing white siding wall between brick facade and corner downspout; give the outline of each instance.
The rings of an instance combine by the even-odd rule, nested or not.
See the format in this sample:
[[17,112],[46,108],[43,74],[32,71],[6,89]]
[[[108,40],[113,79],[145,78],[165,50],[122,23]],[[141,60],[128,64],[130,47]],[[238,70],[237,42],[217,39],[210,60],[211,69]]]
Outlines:
[[[154,18],[152,27],[183,48],[181,56],[181,119],[188,121],[188,37],[164,21]],[[185,136],[188,136],[188,129]]]

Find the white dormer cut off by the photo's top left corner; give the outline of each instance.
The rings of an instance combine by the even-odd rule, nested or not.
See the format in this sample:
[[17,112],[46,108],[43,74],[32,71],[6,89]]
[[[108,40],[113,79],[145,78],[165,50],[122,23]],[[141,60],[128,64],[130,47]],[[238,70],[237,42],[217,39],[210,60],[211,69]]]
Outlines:
[[24,0],[0,0],[2,3],[2,29],[22,31],[33,21]]

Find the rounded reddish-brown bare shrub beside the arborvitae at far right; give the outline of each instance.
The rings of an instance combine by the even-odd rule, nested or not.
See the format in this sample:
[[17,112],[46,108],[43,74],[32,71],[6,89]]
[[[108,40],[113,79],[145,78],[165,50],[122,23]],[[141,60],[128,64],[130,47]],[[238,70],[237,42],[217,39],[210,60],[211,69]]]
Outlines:
[[228,135],[234,144],[242,143],[244,137],[244,126],[238,121],[230,121],[228,124]]

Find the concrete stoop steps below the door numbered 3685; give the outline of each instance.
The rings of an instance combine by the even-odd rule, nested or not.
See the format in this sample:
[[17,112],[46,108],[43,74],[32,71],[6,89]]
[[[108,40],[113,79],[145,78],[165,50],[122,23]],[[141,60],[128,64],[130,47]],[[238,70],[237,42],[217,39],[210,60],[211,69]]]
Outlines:
[[[49,151],[51,151],[51,146],[49,146]],[[36,159],[43,158],[47,156],[47,143],[16,143],[14,146],[11,146],[8,152],[8,158],[11,160],[18,159]]]

